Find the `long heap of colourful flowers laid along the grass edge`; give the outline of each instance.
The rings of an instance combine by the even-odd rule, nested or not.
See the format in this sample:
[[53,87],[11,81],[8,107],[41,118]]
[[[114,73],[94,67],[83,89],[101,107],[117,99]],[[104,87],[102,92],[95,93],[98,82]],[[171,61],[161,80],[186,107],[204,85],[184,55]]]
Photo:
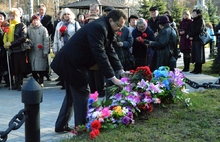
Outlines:
[[[130,78],[122,78],[123,88],[112,94],[109,100],[98,101],[98,93],[90,94],[85,128],[94,139],[101,129],[135,124],[141,112],[152,113],[152,104],[166,103],[166,100],[183,100],[184,75],[180,70],[169,71],[160,67],[153,73],[148,66],[131,71]],[[164,101],[165,100],[165,101]]]

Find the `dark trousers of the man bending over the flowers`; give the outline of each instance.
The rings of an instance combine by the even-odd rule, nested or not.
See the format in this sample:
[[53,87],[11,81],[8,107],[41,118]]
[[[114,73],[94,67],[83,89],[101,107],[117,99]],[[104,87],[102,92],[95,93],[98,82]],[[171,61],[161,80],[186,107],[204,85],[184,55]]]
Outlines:
[[90,93],[89,85],[77,89],[65,83],[65,87],[66,96],[63,100],[63,104],[55,124],[55,131],[63,130],[65,126],[68,126],[68,122],[71,119],[73,112],[75,126],[86,123],[87,104]]

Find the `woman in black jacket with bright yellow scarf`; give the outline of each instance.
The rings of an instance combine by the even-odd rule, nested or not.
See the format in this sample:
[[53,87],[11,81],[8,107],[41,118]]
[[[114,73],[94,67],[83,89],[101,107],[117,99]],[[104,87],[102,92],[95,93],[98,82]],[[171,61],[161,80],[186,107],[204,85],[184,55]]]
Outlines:
[[12,90],[21,91],[23,75],[26,72],[26,51],[22,50],[22,43],[27,37],[27,27],[20,21],[20,11],[12,8],[9,11],[9,32],[4,35],[4,47],[10,50],[11,74],[15,76],[15,83]]

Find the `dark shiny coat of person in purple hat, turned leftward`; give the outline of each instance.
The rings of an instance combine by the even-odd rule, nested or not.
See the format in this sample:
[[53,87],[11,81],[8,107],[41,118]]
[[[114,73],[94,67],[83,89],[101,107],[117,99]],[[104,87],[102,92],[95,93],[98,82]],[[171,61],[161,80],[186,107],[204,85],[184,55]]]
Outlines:
[[158,69],[160,66],[169,66],[171,54],[177,59],[176,45],[176,31],[169,25],[165,26],[161,29],[155,41],[152,41],[149,45],[150,48],[155,50],[153,62],[150,65],[152,71]]

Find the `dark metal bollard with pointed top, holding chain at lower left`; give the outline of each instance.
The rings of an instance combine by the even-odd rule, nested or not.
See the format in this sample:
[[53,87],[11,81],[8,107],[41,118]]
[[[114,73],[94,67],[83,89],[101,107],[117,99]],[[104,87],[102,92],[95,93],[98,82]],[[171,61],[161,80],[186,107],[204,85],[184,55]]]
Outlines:
[[25,142],[40,142],[40,103],[42,87],[31,77],[22,88],[22,103],[27,110],[25,121]]

